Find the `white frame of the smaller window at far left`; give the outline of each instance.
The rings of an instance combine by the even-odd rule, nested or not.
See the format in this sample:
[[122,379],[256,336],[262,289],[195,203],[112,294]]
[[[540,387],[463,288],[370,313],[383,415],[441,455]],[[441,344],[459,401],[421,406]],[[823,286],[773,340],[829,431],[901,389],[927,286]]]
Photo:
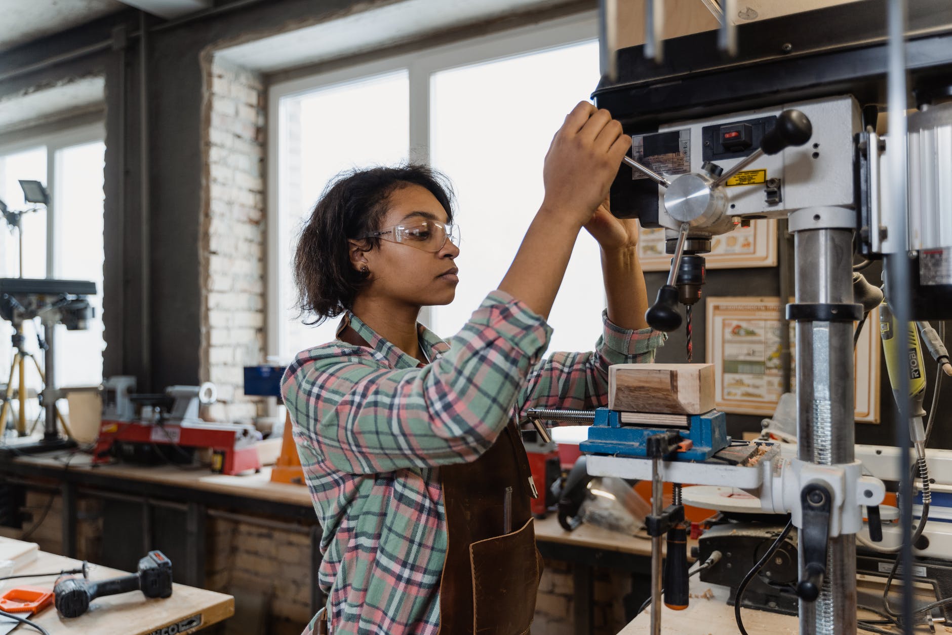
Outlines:
[[[8,154],[17,154],[34,148],[45,147],[47,149],[47,192],[50,195],[50,204],[47,205],[47,277],[57,277],[57,268],[61,265],[57,259],[59,247],[62,245],[63,236],[57,232],[57,205],[56,186],[59,166],[56,161],[56,153],[73,146],[81,146],[96,141],[106,142],[106,125],[104,121],[77,126],[66,130],[50,131],[48,133],[38,133],[17,139],[14,142],[3,143],[0,141],[0,156]],[[100,294],[102,289],[97,290]]]

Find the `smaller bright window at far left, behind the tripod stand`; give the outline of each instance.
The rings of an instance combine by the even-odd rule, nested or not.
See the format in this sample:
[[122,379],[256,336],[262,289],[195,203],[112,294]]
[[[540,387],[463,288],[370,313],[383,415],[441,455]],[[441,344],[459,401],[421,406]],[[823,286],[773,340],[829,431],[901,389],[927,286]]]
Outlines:
[[[95,317],[86,331],[56,327],[58,387],[96,385],[102,381],[103,339],[103,170],[105,145],[101,126],[50,134],[18,147],[0,146],[0,199],[10,210],[29,210],[19,179],[47,186],[50,206],[23,215],[23,277],[85,279],[96,283],[99,294],[89,302]],[[0,277],[18,277],[19,236],[0,223]],[[37,345],[39,323],[26,325],[28,352],[42,364]],[[0,381],[6,382],[11,362],[12,328],[0,322]],[[35,369],[27,367],[30,388],[39,387]]]

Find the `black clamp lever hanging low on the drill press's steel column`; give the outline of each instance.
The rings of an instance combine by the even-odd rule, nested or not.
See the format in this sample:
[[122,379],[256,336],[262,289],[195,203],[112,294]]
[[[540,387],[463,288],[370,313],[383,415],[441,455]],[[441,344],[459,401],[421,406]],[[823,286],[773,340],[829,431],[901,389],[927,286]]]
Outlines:
[[805,579],[797,584],[797,595],[804,602],[820,597],[826,575],[826,547],[830,533],[830,496],[823,485],[811,482],[800,492],[800,549],[803,552]]

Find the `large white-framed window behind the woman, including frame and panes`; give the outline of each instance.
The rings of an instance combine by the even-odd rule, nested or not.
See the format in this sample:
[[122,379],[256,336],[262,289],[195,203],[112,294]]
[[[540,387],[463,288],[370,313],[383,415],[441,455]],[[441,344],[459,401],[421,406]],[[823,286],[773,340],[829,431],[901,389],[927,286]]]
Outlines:
[[[596,32],[594,19],[573,16],[272,86],[269,354],[288,361],[333,338],[335,324],[307,328],[290,310],[294,236],[327,178],[407,156],[444,172],[457,194],[457,296],[421,315],[445,338],[457,332],[502,280],[542,202],[552,134],[598,83]],[[550,350],[594,346],[601,279],[598,245],[583,232],[549,318]]]

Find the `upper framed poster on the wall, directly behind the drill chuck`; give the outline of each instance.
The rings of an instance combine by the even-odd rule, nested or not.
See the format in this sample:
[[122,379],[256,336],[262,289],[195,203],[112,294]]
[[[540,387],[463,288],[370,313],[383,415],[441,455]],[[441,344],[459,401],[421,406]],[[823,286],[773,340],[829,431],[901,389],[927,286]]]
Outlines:
[[[671,255],[664,253],[664,229],[642,229],[638,256],[645,271],[668,271]],[[705,254],[708,269],[773,267],[777,264],[777,221],[754,220],[750,227],[711,239],[711,253]]]

